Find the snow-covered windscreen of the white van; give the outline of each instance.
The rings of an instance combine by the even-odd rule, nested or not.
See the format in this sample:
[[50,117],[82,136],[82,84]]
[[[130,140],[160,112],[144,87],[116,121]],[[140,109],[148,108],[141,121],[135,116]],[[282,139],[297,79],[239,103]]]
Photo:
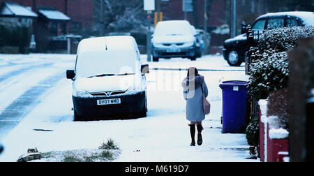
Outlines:
[[[122,54],[121,54],[122,53]],[[77,78],[135,74],[137,57],[128,51],[84,53],[77,57]]]

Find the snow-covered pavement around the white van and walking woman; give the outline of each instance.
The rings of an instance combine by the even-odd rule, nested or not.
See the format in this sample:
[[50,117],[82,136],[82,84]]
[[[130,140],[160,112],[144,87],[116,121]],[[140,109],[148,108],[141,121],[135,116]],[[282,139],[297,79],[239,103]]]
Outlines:
[[[69,60],[59,59],[59,63],[54,66],[65,71],[74,65],[68,63]],[[149,64],[156,68],[164,68],[170,63],[173,63],[173,67],[186,67],[188,62],[202,68],[230,70],[223,58],[218,56],[206,56],[195,62],[161,59],[159,63]],[[72,82],[64,78],[40,96],[40,103],[4,138],[6,151],[0,157],[0,161],[16,161],[18,156],[33,146],[38,147],[40,152],[94,149],[108,138],[112,138],[121,147],[121,156],[117,161],[257,161],[246,159],[249,157],[249,146],[244,134],[221,133],[219,80],[230,74],[243,76],[244,71],[200,73],[205,76],[212,105],[211,115],[203,122],[202,146],[189,146],[190,133],[184,111],[186,102],[180,86],[186,71],[152,70],[147,75],[149,108],[147,118],[73,122]]]

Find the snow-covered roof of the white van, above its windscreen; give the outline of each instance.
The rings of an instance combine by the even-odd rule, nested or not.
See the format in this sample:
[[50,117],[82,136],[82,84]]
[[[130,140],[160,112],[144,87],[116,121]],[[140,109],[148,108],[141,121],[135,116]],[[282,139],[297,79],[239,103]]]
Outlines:
[[[107,43],[107,46],[106,46]],[[107,36],[98,38],[87,38],[80,42],[77,52],[102,52],[105,51],[133,50],[137,44],[132,36]]]

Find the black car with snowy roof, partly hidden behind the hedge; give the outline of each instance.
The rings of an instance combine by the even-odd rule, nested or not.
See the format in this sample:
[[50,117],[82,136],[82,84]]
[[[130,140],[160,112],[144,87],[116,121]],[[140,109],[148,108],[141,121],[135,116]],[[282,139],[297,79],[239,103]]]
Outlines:
[[[267,13],[255,20],[252,29],[264,31],[277,29],[281,27],[294,26],[314,26],[313,12],[282,12],[282,13]],[[241,34],[235,38],[231,38],[224,43],[223,57],[227,60],[230,66],[240,66],[245,61],[248,42],[246,40],[246,30],[242,29]]]

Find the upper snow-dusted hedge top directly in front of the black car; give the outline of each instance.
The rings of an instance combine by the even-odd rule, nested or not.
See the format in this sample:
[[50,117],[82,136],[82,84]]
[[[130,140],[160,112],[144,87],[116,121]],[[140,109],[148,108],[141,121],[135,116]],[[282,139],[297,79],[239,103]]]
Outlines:
[[274,29],[262,34],[258,47],[260,52],[265,52],[269,49],[283,52],[296,47],[299,38],[311,36],[314,36],[313,26]]

